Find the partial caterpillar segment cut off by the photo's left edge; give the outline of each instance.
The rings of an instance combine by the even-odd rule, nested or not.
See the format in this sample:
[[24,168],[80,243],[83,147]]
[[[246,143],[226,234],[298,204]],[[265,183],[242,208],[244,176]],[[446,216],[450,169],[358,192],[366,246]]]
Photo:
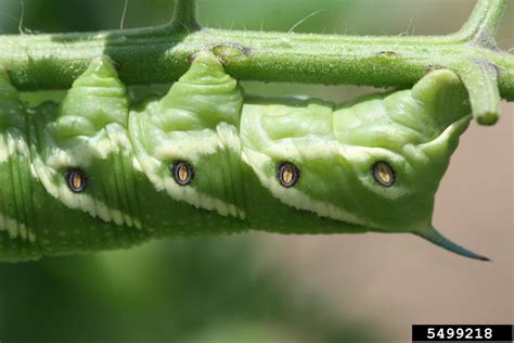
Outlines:
[[0,259],[41,256],[27,139],[27,114],[0,71]]

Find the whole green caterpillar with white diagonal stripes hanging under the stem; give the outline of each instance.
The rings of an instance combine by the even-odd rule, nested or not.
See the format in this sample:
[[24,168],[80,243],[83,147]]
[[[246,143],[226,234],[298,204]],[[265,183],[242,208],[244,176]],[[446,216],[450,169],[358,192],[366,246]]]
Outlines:
[[25,109],[0,74],[0,259],[166,236],[412,232],[486,259],[432,225],[470,123],[449,71],[333,105],[244,98],[210,53],[162,99],[130,104],[108,58],[57,106]]

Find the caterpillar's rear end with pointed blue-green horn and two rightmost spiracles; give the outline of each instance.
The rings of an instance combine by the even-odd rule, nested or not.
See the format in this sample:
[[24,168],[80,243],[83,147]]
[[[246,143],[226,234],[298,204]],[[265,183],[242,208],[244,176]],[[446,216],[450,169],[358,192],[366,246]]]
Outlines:
[[319,102],[249,106],[244,117],[259,129],[244,136],[245,153],[261,183],[287,205],[365,230],[413,232],[484,258],[432,227],[434,196],[468,113],[458,76],[437,71],[412,90],[333,112]]

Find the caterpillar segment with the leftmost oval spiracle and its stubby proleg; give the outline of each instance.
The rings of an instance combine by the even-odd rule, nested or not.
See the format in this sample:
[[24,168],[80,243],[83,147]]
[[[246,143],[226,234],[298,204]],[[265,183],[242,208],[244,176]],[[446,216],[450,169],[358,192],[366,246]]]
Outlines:
[[[88,104],[82,107],[82,105]],[[44,202],[43,254],[126,247],[146,237],[127,135],[129,102],[108,59],[92,62],[55,107],[30,116],[33,169]]]

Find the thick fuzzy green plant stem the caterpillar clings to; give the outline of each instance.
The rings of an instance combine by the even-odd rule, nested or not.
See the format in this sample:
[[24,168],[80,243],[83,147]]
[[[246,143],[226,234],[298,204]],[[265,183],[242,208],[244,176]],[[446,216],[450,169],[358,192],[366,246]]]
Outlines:
[[[182,0],[177,1],[174,21],[159,27],[0,36],[0,67],[10,72],[18,89],[67,88],[91,59],[107,54],[127,85],[147,85],[176,80],[191,56],[211,50],[240,80],[407,88],[429,69],[450,68],[467,79],[472,90],[476,78],[463,76],[468,69],[462,66],[485,61],[498,71],[487,84],[498,85],[497,93],[513,101],[514,56],[493,49],[490,38],[483,39],[493,37],[507,1],[478,1],[468,22],[453,35],[352,37],[200,28],[194,1]],[[474,109],[476,115],[498,115],[498,104],[491,105],[497,97],[488,94],[480,103],[489,107]]]

